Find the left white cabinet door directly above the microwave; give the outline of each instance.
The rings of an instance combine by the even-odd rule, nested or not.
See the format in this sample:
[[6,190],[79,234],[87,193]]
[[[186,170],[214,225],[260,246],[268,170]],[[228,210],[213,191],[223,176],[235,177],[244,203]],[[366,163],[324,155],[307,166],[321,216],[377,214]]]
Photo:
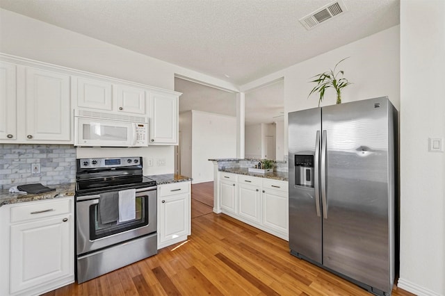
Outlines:
[[113,85],[111,83],[82,77],[74,79],[76,79],[77,85],[78,107],[108,111],[113,109],[113,97],[111,97]]

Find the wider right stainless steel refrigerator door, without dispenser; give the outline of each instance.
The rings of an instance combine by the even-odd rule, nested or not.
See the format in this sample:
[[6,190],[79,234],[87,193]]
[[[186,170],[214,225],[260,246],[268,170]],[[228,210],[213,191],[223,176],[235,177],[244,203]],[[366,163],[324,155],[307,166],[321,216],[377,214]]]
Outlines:
[[323,265],[388,293],[389,105],[385,97],[323,107],[321,144]]

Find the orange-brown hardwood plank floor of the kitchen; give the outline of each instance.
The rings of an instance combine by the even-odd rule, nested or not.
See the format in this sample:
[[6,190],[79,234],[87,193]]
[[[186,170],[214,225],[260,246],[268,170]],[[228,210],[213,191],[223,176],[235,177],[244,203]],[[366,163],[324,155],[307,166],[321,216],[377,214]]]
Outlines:
[[[193,195],[195,191],[196,186]],[[207,213],[193,217],[192,235],[185,242],[160,249],[156,256],[102,277],[80,285],[72,283],[45,295],[370,294],[291,256],[285,240],[227,215]],[[412,294],[394,286],[392,295]]]

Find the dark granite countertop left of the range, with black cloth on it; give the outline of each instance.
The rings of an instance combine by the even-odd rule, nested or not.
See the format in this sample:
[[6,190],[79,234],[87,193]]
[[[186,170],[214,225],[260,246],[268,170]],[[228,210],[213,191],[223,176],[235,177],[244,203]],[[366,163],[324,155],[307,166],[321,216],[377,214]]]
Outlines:
[[10,193],[7,189],[0,190],[0,206],[5,204],[17,204],[19,202],[33,202],[42,199],[54,199],[58,197],[74,196],[74,183],[48,185],[49,188],[55,188],[55,191],[44,192],[40,194],[21,195],[18,193]]

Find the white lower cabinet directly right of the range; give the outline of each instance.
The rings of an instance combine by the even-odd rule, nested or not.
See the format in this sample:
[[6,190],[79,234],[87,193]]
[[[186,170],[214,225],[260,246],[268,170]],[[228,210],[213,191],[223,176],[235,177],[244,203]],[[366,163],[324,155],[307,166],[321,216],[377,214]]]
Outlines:
[[158,249],[191,235],[191,182],[158,186]]

